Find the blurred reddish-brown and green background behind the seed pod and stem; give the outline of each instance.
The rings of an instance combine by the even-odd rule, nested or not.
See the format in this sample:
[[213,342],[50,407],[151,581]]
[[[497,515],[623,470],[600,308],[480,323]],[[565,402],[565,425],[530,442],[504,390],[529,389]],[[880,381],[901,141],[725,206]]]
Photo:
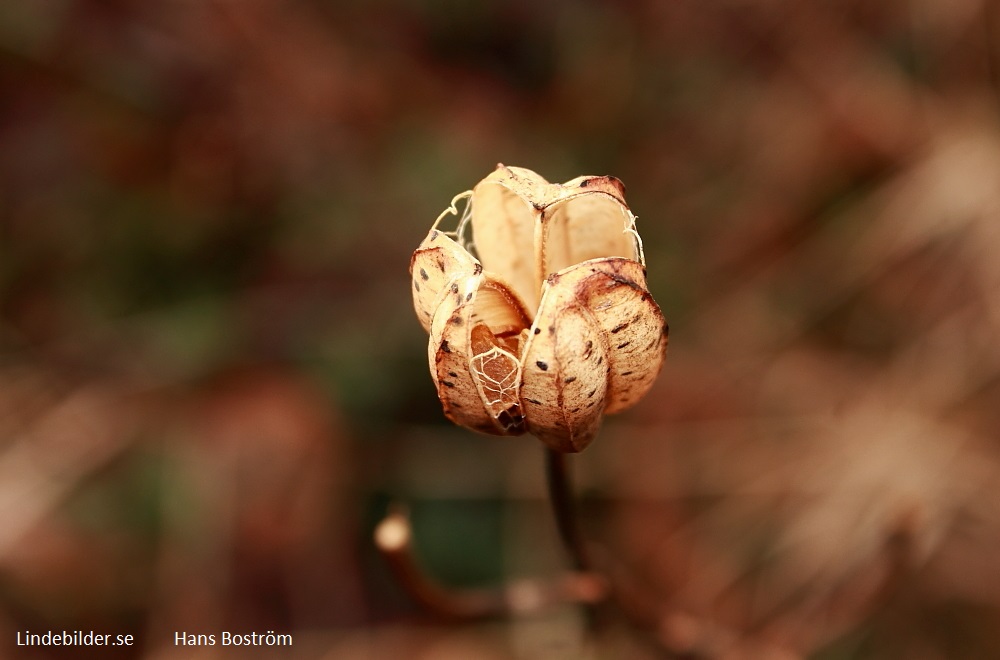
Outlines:
[[[993,0],[11,2],[0,85],[0,656],[1000,657]],[[566,566],[410,301],[498,162],[622,179],[671,326],[573,463],[598,633],[442,623],[371,542]]]

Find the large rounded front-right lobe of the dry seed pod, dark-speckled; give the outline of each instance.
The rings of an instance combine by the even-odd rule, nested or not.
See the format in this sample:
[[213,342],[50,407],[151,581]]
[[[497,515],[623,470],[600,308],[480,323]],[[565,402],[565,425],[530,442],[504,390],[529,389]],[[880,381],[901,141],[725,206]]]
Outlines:
[[551,275],[524,348],[531,432],[560,451],[586,447],[605,412],[630,407],[652,386],[665,328],[635,261],[592,259]]

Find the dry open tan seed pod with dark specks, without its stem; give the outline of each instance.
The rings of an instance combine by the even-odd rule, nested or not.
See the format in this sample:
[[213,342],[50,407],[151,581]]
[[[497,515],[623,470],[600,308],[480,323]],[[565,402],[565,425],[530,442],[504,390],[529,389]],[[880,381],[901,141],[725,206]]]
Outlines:
[[[439,229],[463,199],[458,228]],[[604,413],[646,394],[666,354],[635,216],[613,177],[551,184],[498,165],[438,217],[410,274],[445,415],[483,433],[580,451]]]

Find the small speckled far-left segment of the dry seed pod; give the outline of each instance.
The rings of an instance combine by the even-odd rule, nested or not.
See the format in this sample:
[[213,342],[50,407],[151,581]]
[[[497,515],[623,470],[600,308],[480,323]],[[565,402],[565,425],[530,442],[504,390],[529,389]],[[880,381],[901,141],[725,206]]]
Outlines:
[[449,236],[432,229],[410,257],[413,307],[417,319],[430,332],[437,304],[452,281],[482,272],[483,267]]

